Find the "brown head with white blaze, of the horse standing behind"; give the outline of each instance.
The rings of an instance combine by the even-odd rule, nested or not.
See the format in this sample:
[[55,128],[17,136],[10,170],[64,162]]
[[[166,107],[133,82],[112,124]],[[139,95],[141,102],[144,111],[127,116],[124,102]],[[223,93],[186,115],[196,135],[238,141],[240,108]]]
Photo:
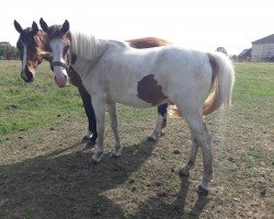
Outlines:
[[31,27],[22,28],[18,21],[13,22],[15,30],[20,33],[16,47],[22,61],[21,78],[25,82],[32,82],[35,77],[35,70],[45,56],[45,33],[38,30],[33,22]]

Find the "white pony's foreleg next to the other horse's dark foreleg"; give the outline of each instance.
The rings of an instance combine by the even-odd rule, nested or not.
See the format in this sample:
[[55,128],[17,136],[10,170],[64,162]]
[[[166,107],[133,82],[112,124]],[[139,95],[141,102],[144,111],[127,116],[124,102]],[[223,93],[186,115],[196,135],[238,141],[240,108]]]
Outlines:
[[98,163],[101,161],[104,153],[105,99],[102,96],[92,96],[91,101],[94,106],[98,129],[98,143],[92,160],[94,163]]

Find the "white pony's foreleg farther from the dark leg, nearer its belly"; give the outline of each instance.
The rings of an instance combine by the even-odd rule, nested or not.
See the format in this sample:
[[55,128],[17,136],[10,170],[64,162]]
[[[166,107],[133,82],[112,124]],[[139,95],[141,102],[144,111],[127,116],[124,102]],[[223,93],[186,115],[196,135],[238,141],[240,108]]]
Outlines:
[[115,138],[115,146],[112,152],[113,158],[121,157],[121,141],[118,135],[118,120],[117,120],[117,111],[116,111],[116,103],[107,105],[110,118],[111,118],[111,126]]

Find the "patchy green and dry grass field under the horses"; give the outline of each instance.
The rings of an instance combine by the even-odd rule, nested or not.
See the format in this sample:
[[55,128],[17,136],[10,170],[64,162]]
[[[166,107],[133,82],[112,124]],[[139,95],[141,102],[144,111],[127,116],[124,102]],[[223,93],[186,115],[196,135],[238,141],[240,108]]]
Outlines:
[[25,84],[20,61],[0,61],[0,218],[273,218],[274,64],[236,64],[236,72],[232,107],[205,118],[214,180],[202,197],[201,151],[191,176],[178,175],[191,147],[184,120],[169,118],[165,135],[147,142],[156,108],[118,105],[123,155],[109,157],[107,123],[106,153],[92,165],[77,89],[58,89],[48,64]]

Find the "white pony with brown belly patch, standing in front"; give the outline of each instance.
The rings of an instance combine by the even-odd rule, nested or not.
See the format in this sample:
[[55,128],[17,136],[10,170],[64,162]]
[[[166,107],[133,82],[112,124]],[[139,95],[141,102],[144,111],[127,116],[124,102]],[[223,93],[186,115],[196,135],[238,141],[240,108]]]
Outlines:
[[[221,54],[175,46],[135,49],[126,42],[104,41],[71,31],[67,20],[62,25],[49,27],[41,19],[41,26],[47,33],[46,48],[53,55],[57,85],[67,84],[68,67],[72,66],[91,95],[99,137],[93,162],[98,163],[104,152],[105,105],[115,137],[112,154],[119,157],[116,103],[135,107],[173,103],[183,114],[193,142],[190,159],[181,173],[190,174],[199,146],[204,173],[198,192],[207,194],[213,177],[212,136],[203,123],[203,108],[213,112],[220,105],[230,105],[235,81],[230,60]],[[213,87],[214,93],[208,96]]]

